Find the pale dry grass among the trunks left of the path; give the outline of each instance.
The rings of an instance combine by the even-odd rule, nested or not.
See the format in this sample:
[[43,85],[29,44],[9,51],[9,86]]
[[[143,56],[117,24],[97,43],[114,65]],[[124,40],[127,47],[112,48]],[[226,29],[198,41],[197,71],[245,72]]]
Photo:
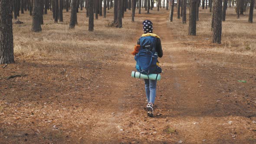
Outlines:
[[[70,13],[63,13],[63,23],[53,23],[52,13],[44,15],[42,32],[31,32],[32,18],[21,14],[21,25],[14,24],[14,54],[18,59],[54,56],[58,59],[78,62],[82,60],[102,60],[122,52],[127,40],[133,38],[134,23],[123,20],[122,29],[106,27],[112,21],[112,11],[103,19],[95,20],[95,31],[89,32],[85,10],[78,13],[78,25],[69,29]],[[127,16],[128,14],[126,14]],[[68,58],[68,59],[67,59]]]

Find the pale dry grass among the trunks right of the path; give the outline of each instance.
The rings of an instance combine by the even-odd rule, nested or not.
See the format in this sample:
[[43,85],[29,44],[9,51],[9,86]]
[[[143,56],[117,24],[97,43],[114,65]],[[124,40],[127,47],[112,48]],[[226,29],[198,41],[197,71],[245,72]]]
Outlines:
[[[211,43],[211,13],[209,10],[200,10],[200,21],[197,23],[197,36],[188,36],[188,24],[181,24],[181,20],[174,20],[173,23],[170,23],[170,27],[176,33],[178,41],[192,48],[214,48],[214,51],[223,53],[255,54],[256,23],[247,23],[248,13],[240,16],[239,20],[236,19],[233,8],[228,8],[226,15],[226,21],[223,22],[222,27],[221,45]],[[255,19],[256,16],[254,17]]]

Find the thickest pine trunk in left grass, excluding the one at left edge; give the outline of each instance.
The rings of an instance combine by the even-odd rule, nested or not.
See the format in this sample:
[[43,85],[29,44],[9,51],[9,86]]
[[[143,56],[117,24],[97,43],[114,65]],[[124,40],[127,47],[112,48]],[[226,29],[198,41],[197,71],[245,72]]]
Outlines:
[[[42,19],[41,19],[41,15],[42,15],[42,11],[41,11],[41,0],[33,0],[34,4],[33,4],[33,13],[32,13],[32,31],[33,32],[40,32],[42,31],[41,28],[41,23],[42,23]],[[42,15],[43,16],[43,15]]]

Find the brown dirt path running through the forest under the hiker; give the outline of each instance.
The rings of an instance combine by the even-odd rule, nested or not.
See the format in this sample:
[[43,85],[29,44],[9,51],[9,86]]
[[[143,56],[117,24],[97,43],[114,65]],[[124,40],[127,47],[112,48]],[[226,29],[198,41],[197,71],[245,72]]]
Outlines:
[[[158,82],[154,118],[148,118],[144,107],[144,82],[132,79],[135,61],[129,55],[137,39],[129,46],[127,55],[106,72],[111,95],[105,100],[98,127],[97,142],[149,143],[239,143],[252,134],[248,118],[236,110],[223,109],[220,93],[207,75],[200,73],[198,64],[174,39],[168,26],[168,13],[141,15],[154,23],[154,32],[161,37],[164,56],[162,80]],[[135,24],[140,29],[141,24]],[[137,34],[137,37],[140,33]],[[118,72],[116,72],[118,69]],[[224,100],[223,100],[224,101]],[[222,104],[221,104],[222,103]],[[231,115],[229,115],[231,113]],[[230,123],[228,123],[230,122]],[[250,129],[250,130],[249,130]],[[236,140],[237,139],[237,140]]]

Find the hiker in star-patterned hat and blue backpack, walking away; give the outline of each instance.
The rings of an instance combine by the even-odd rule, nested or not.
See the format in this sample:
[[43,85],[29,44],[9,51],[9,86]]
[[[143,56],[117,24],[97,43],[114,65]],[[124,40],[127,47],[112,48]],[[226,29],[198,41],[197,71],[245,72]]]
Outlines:
[[[136,69],[142,74],[159,74],[162,70],[158,66],[157,58],[163,56],[160,37],[153,33],[153,23],[150,20],[143,22],[143,30],[144,34],[138,39],[138,49],[136,52],[138,54],[135,53]],[[144,81],[148,100],[148,116],[153,117],[157,80],[144,79]]]

